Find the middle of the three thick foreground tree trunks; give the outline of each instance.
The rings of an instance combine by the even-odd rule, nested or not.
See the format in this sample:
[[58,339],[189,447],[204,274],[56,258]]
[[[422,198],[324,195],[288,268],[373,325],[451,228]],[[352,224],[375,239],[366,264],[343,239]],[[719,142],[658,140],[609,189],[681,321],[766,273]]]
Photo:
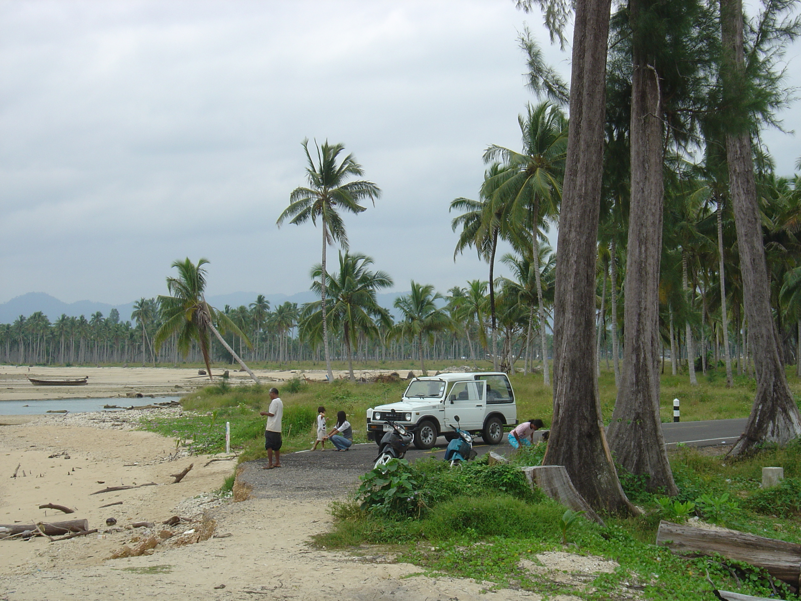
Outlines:
[[[646,0],[647,2],[647,0]],[[631,197],[623,305],[623,369],[609,430],[615,460],[647,476],[648,490],[673,496],[659,417],[659,263],[662,258],[662,99],[638,20],[646,2],[630,0],[634,33],[631,78]]]

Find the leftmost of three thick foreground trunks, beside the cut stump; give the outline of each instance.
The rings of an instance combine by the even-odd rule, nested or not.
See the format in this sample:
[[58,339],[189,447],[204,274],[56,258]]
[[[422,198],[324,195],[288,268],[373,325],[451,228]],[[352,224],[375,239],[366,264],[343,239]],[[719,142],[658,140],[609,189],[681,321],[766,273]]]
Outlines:
[[553,422],[544,464],[565,466],[595,510],[636,513],[606,444],[595,353],[587,345],[594,333],[610,0],[577,0],[575,10],[553,310]]

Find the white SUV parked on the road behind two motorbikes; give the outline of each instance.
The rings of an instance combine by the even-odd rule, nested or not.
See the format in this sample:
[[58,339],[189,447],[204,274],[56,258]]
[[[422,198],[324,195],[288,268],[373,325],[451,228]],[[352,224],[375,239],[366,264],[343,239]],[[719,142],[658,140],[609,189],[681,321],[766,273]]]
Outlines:
[[367,438],[380,442],[387,423],[398,422],[414,432],[414,446],[430,449],[437,437],[453,438],[456,417],[462,430],[481,434],[484,442],[497,445],[504,426],[517,424],[517,405],[505,373],[440,373],[409,382],[400,402],[367,410]]

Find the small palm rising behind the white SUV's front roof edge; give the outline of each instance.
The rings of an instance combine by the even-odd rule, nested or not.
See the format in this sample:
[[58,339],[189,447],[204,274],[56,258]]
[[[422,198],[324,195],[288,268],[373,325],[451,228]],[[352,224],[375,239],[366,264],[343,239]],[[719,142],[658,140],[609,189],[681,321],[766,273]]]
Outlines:
[[395,326],[395,334],[411,341],[417,340],[420,369],[424,376],[427,376],[428,372],[425,370],[423,359],[423,338],[430,339],[435,332],[453,327],[453,321],[448,314],[442,309],[437,309],[436,301],[441,299],[442,295],[434,292],[432,284],[417,284],[414,280],[412,280],[412,292],[395,299],[395,308],[399,309],[403,316],[403,320]]

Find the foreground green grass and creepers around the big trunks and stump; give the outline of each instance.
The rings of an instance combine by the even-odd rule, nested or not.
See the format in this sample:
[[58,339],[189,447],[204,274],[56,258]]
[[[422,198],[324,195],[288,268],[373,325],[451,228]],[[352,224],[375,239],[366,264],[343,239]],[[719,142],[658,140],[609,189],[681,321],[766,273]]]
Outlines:
[[[529,451],[535,455],[535,451]],[[769,538],[801,542],[798,505],[801,444],[786,449],[765,449],[747,460],[728,462],[722,455],[682,448],[671,454],[680,498],[727,493],[739,504],[718,523]],[[525,459],[521,458],[521,462]],[[430,574],[447,574],[489,581],[499,587],[521,587],[540,594],[578,594],[584,599],[626,598],[627,587],[644,586],[645,599],[714,599],[706,572],[717,587],[747,595],[770,596],[766,574],[747,564],[720,557],[685,558],[673,555],[654,540],[662,517],[656,496],[645,491],[642,479],[626,480],[626,493],[637,498],[646,513],[632,518],[604,516],[606,527],[579,519],[568,530],[570,544],[562,544],[559,526],[564,507],[542,495],[529,497],[499,490],[508,475],[481,461],[463,470],[447,470],[435,463],[409,466],[410,478],[425,491],[423,511],[372,513],[357,500],[332,505],[334,527],[316,537],[320,547],[359,553],[364,544],[390,545],[399,561],[421,566]],[[782,489],[760,490],[762,466],[783,466],[790,484]],[[475,474],[469,473],[475,472]],[[481,478],[474,476],[482,474]],[[450,474],[450,475],[449,475]],[[471,486],[459,489],[459,479]],[[454,485],[457,492],[454,493]],[[786,504],[787,511],[777,509]],[[568,551],[614,559],[613,574],[598,575],[584,591],[554,583],[525,571],[521,559],[537,563],[542,551]],[[786,587],[775,585],[785,599]],[[628,591],[631,592],[630,590]]]

